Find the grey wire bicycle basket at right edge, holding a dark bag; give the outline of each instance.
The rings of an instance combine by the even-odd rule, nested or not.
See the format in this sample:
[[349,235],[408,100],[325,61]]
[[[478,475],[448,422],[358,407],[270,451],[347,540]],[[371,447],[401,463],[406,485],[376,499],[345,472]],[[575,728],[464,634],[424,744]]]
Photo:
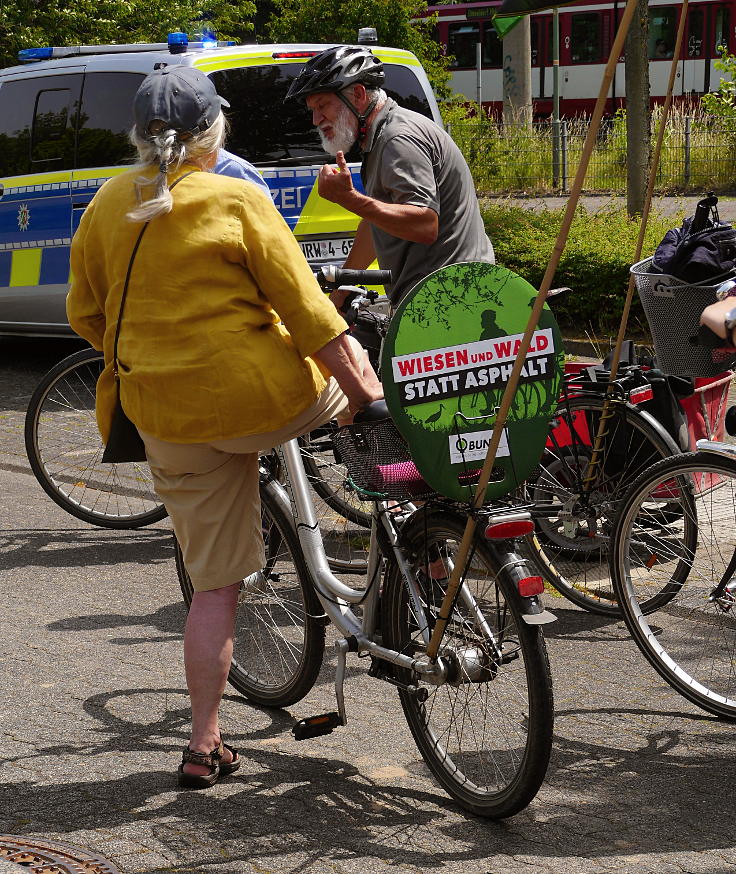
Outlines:
[[666,273],[651,273],[651,264],[652,259],[645,258],[631,272],[652,332],[658,367],[676,376],[723,373],[736,362],[736,356],[714,363],[711,350],[696,341],[700,314],[716,302],[717,286],[691,285]]

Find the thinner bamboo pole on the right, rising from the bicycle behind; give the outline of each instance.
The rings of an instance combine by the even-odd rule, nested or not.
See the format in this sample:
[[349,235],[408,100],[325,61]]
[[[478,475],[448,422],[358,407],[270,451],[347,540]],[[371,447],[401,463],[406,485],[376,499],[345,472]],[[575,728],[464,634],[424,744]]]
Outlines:
[[[685,34],[685,19],[687,18],[688,0],[683,0],[682,11],[680,13],[680,22],[677,26],[677,36],[675,38],[675,49],[672,53],[672,64],[670,65],[670,76],[667,81],[667,93],[662,108],[662,117],[657,128],[657,138],[654,144],[654,152],[649,167],[649,179],[647,180],[647,192],[644,197],[644,207],[641,213],[641,221],[639,224],[639,234],[636,240],[636,251],[634,253],[634,263],[641,261],[641,253],[644,248],[644,236],[647,231],[647,222],[649,221],[649,212],[652,206],[652,198],[654,196],[654,185],[657,181],[657,170],[659,169],[659,161],[662,155],[662,144],[664,143],[664,135],[667,129],[667,119],[669,117],[670,108],[672,106],[672,92],[675,87],[675,77],[677,75],[677,64],[680,58],[680,48]],[[634,300],[634,287],[636,278],[633,273],[629,273],[629,284],[626,289],[626,299],[624,300],[624,308],[621,313],[621,324],[618,328],[618,336],[616,337],[616,345],[613,350],[613,360],[611,361],[611,375],[609,377],[608,388],[606,395],[610,396],[613,392],[613,381],[618,375],[619,364],[621,363],[621,350],[624,345],[626,336],[626,327],[629,322],[629,313],[631,312],[631,304]],[[598,428],[593,441],[593,453],[590,456],[583,477],[584,488],[589,488],[592,483],[596,468],[600,463],[600,456],[603,450],[603,441],[606,438],[608,431],[608,420],[613,414],[613,407],[610,404],[604,404],[601,412],[601,418],[598,422]]]

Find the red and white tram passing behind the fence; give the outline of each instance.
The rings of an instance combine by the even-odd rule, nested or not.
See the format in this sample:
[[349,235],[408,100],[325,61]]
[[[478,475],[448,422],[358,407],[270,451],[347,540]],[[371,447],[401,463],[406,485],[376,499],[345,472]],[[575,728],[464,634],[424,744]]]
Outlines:
[[[481,94],[492,112],[502,106],[503,44],[491,16],[500,0],[430,6],[437,12],[438,38],[454,57],[451,85],[468,100],[477,100],[477,44],[481,44]],[[578,0],[560,7],[560,112],[563,116],[589,113],[603,75],[603,67],[623,14],[623,0]],[[649,4],[649,76],[652,102],[662,102],[669,77],[682,4],[651,0]],[[531,16],[532,94],[537,117],[552,113],[552,11]],[[714,62],[719,47],[736,47],[736,0],[694,0],[688,6],[685,37],[675,80],[677,99],[698,99],[718,86]],[[616,68],[606,111],[625,105],[623,58]]]

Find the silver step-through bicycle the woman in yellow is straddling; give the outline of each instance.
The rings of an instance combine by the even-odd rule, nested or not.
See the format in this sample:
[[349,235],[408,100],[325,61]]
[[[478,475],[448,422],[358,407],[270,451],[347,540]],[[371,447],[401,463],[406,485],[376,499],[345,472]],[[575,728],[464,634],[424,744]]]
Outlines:
[[[368,459],[354,451],[366,439],[379,448]],[[538,598],[541,579],[529,574],[509,539],[512,531],[529,530],[530,514],[514,502],[479,512],[485,536],[474,539],[439,657],[430,660],[426,650],[467,507],[422,489],[390,420],[347,426],[333,440],[371,500],[365,583],[348,586],[330,571],[298,442],[266,456],[260,478],[266,564],[241,584],[229,680],[256,704],[296,703],[317,679],[332,623],[339,635],[337,711],[300,720],[295,737],[347,724],[347,653],[369,657],[368,674],[398,689],[417,747],[445,791],[480,816],[512,816],[544,779],[553,727],[541,631],[553,617]],[[375,477],[387,467],[401,475],[389,477],[393,486],[379,496]],[[417,508],[412,501],[420,498],[425,503]],[[192,586],[178,544],[176,558],[189,604]]]

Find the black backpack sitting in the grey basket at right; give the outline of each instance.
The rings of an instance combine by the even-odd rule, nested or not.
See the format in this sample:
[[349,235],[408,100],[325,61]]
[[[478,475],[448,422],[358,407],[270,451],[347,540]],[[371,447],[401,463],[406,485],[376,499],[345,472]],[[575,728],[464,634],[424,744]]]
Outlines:
[[691,285],[722,281],[736,270],[736,230],[718,217],[710,193],[681,228],[667,231],[652,258],[652,273],[666,273]]

